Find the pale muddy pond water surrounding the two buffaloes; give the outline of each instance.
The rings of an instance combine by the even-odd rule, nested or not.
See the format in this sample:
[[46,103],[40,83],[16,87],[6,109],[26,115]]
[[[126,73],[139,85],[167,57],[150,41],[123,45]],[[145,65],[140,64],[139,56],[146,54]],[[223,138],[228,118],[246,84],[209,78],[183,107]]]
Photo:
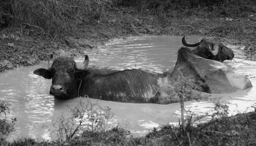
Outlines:
[[[199,41],[199,37],[191,37],[190,42]],[[118,70],[143,69],[154,72],[172,72],[176,63],[177,50],[182,46],[181,37],[130,37],[127,40],[113,40],[99,47],[97,50],[87,50],[89,66],[110,67]],[[256,63],[244,60],[238,46],[228,46],[234,50],[235,58],[225,62],[233,68],[235,73],[245,74],[248,77],[256,76]],[[240,46],[241,47],[241,46]],[[242,47],[243,48],[243,47]],[[76,59],[81,63],[84,58]],[[47,63],[34,67],[21,67],[0,74],[0,98],[7,100],[14,108],[8,114],[8,119],[17,118],[16,131],[9,139],[30,137],[38,140],[56,138],[50,134],[52,120],[57,120],[61,113],[70,113],[68,107],[75,107],[86,98],[76,98],[65,101],[55,100],[49,95],[51,79],[44,79],[33,74],[37,68],[46,68]],[[228,94],[222,97],[223,103],[229,105],[230,115],[238,112],[251,111],[250,105],[256,102],[256,78],[250,78],[253,88]],[[128,129],[135,136],[145,135],[153,127],[160,128],[162,124],[177,124],[180,117],[180,104],[128,104],[108,101],[97,101],[102,107],[109,106],[114,117],[108,122],[108,127],[116,126]],[[202,115],[211,111],[213,103],[201,101],[185,102],[185,109],[194,115]],[[1,117],[2,118],[2,117]],[[201,119],[207,121],[210,117]]]

